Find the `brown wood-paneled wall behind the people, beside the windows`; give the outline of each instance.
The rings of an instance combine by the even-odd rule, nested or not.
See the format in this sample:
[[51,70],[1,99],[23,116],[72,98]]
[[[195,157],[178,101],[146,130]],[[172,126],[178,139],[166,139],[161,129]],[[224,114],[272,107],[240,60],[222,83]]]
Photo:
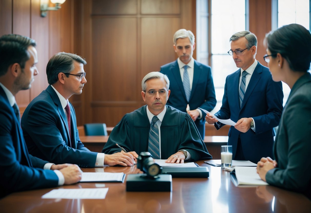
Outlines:
[[[70,98],[78,125],[114,126],[144,105],[143,76],[177,58],[174,32],[185,28],[196,35],[196,0],[67,0],[45,18],[39,8],[40,0],[0,1],[0,36],[16,33],[37,42],[39,75],[16,100],[23,112],[48,86],[49,58],[61,51],[77,53],[88,63],[82,94]],[[271,30],[271,0],[249,0],[249,28],[258,36],[257,58],[262,62],[262,41]]]

